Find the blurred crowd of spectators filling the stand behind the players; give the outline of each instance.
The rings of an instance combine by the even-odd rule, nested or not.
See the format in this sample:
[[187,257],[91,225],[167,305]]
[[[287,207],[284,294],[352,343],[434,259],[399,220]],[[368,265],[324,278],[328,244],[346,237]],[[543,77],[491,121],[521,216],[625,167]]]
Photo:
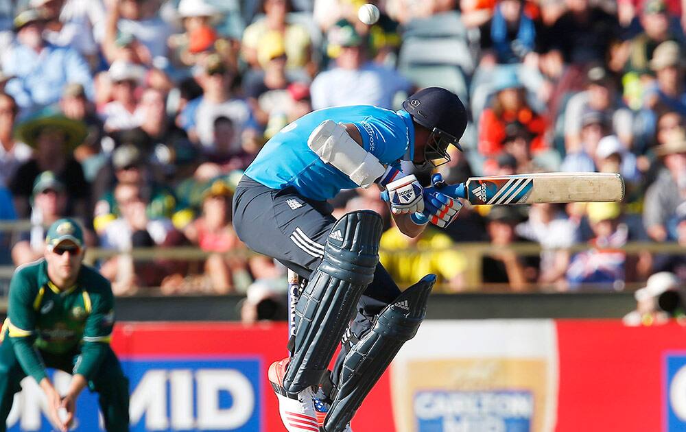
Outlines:
[[[18,5],[15,3],[19,3]],[[436,272],[473,289],[460,242],[483,241],[484,283],[512,291],[622,289],[683,256],[626,254],[632,241],[686,244],[686,10],[679,0],[0,1],[0,219],[11,263],[42,254],[44,226],[78,217],[89,246],[196,245],[208,259],[103,259],[116,295],[269,291],[284,269],[245,251],[231,197],[261,146],[329,106],[398,109],[442,86],[471,121],[449,182],[541,171],[622,173],[619,203],[465,206],[446,230],[391,226],[381,262],[400,285]],[[404,167],[412,171],[412,165]],[[428,182],[429,173],[416,173]],[[388,207],[378,189],[339,195],[335,215]],[[540,256],[503,246],[539,243]],[[564,248],[587,243],[579,253]],[[394,254],[394,250],[412,252]],[[257,282],[255,282],[257,281]],[[259,289],[258,289],[259,291]],[[250,299],[248,299],[250,300]]]

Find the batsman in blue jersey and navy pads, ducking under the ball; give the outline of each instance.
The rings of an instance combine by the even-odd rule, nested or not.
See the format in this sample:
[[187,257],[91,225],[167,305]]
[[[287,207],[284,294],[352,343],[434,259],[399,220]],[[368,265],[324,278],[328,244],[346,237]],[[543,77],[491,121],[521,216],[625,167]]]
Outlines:
[[269,369],[288,431],[350,430],[362,400],[414,337],[436,281],[429,274],[401,293],[379,263],[381,217],[355,211],[336,220],[327,200],[377,184],[405,235],[416,237],[429,221],[446,226],[462,204],[403,176],[400,162],[447,162],[466,122],[460,99],[438,87],[418,91],[397,112],[317,110],[270,139],[239,182],[238,237],[308,281],[296,304],[291,356]]

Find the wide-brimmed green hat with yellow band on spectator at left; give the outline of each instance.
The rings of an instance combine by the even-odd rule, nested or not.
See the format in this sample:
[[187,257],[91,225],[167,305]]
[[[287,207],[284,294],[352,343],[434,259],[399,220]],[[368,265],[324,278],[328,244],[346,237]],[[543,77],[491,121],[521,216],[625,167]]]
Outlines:
[[64,132],[68,149],[82,144],[88,136],[86,123],[69,119],[51,108],[40,110],[23,121],[16,129],[16,135],[21,141],[35,148],[38,135],[44,128],[55,128]]

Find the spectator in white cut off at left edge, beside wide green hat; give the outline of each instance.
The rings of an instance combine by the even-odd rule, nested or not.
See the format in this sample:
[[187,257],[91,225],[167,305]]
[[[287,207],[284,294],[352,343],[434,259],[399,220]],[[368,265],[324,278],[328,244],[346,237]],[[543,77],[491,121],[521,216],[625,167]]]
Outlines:
[[14,97],[0,93],[0,186],[8,186],[16,169],[32,154],[31,147],[14,136],[14,121],[18,113]]

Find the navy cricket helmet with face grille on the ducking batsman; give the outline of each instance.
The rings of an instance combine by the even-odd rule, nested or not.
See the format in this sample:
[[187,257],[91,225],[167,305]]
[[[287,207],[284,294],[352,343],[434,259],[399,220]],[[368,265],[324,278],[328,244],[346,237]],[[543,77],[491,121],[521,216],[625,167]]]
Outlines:
[[467,112],[455,93],[441,87],[427,87],[403,102],[403,109],[431,135],[424,149],[426,163],[438,167],[450,161],[449,145],[462,151],[460,138],[467,126]]

